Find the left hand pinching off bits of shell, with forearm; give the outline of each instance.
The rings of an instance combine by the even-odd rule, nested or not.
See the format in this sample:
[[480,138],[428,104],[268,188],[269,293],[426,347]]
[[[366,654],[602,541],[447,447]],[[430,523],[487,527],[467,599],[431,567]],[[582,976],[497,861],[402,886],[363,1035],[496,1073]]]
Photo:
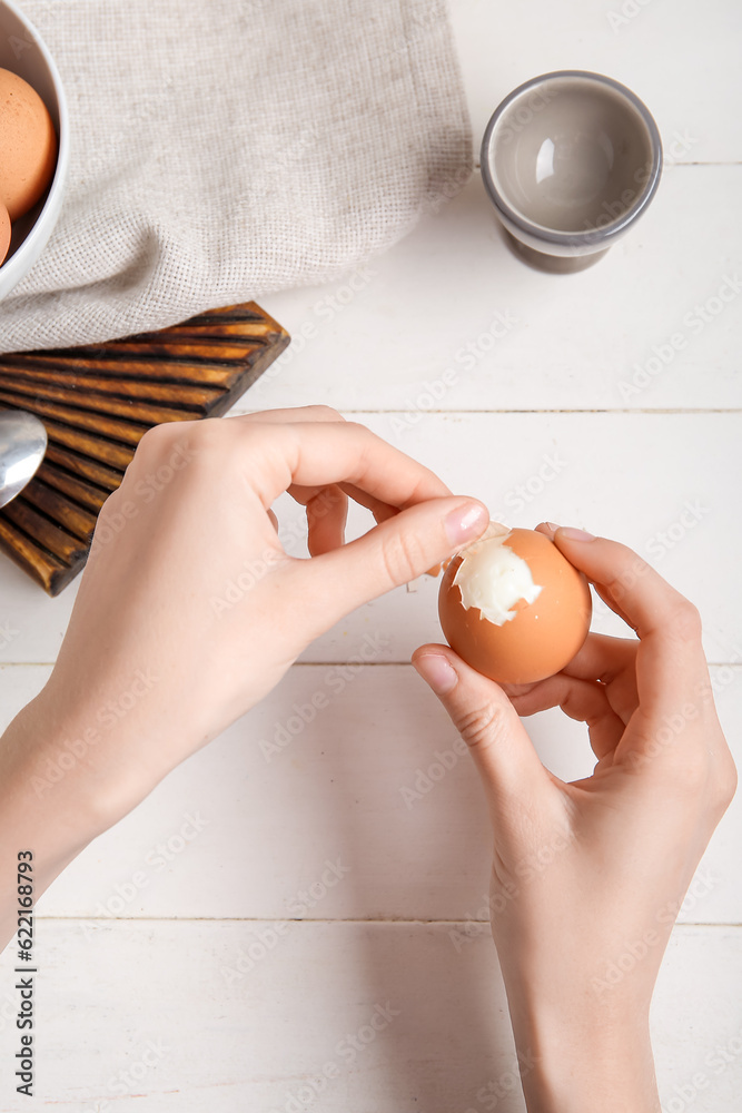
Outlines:
[[[308,560],[278,539],[270,508],[285,491],[306,506]],[[344,544],[348,496],[379,524]],[[326,407],[148,432],[100,513],[51,678],[0,743],[8,861],[33,847],[40,893],[314,638],[487,520]]]

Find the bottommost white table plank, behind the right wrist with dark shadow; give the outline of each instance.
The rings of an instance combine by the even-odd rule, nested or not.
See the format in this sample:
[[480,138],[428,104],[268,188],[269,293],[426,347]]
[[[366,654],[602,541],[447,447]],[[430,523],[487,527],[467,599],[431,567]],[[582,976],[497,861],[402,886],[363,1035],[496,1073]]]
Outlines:
[[[456,952],[451,932],[462,926],[39,920],[34,1103],[58,1113],[483,1113],[496,1100],[497,1113],[523,1113],[495,948],[483,934]],[[13,958],[8,949],[0,959],[9,1022]],[[675,932],[652,1030],[664,1095],[702,1074],[693,1113],[739,1110],[741,971],[742,930]],[[4,1063],[18,1047],[4,1023]],[[24,1113],[12,1071],[1,1078],[4,1113]]]

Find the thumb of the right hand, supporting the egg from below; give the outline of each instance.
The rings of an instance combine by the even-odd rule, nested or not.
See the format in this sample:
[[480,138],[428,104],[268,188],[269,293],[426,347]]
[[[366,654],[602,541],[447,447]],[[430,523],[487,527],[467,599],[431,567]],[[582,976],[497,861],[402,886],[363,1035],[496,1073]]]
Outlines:
[[438,697],[468,746],[493,821],[514,797],[533,800],[551,780],[505,692],[447,646],[422,646],[413,664]]

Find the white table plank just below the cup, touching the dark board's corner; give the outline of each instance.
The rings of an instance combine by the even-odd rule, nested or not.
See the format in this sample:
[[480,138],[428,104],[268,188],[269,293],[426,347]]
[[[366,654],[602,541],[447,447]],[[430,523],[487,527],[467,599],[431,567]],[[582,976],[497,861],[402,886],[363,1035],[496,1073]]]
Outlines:
[[[513,63],[522,78],[543,72]],[[475,175],[367,270],[270,296],[295,344],[259,404],[408,410],[412,421],[429,410],[739,410],[742,221],[729,213],[741,195],[742,165],[675,167],[596,266],[542,275],[511,254]],[[669,353],[676,334],[683,346]]]

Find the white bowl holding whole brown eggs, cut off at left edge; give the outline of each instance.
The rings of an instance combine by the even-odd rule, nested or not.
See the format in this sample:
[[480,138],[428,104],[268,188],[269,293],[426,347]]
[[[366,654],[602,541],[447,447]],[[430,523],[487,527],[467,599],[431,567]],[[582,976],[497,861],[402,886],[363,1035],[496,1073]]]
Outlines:
[[10,0],[0,0],[0,68],[12,70],[36,89],[59,136],[57,169],[49,191],[13,224],[10,253],[0,266],[1,301],[31,269],[57,224],[69,164],[69,116],[59,71],[47,45]]

